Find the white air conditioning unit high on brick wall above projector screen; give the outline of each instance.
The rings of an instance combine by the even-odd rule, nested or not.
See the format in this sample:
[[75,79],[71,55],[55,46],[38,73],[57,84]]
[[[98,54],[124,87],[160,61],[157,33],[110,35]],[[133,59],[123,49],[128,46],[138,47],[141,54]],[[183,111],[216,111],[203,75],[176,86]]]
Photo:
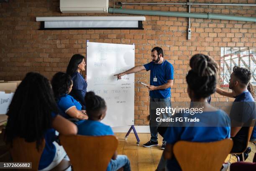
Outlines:
[[60,0],[61,13],[108,13],[108,0]]

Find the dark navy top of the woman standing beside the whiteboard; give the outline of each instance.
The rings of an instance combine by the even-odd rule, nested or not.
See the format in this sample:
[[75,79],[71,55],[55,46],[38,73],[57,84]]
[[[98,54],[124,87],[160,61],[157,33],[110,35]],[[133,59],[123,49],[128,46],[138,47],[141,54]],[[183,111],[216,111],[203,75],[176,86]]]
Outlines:
[[84,97],[87,92],[87,82],[79,72],[75,72],[71,77],[73,80],[73,87],[69,94],[74,97],[75,100],[80,102],[85,110]]

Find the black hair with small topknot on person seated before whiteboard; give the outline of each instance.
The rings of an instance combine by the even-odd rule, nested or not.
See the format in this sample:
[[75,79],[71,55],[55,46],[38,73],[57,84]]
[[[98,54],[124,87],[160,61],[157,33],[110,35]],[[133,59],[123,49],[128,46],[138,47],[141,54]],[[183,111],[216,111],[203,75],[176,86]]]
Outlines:
[[105,100],[100,96],[95,95],[94,92],[87,92],[84,101],[86,104],[86,111],[88,117],[98,117],[101,115],[100,111],[104,110],[107,106]]

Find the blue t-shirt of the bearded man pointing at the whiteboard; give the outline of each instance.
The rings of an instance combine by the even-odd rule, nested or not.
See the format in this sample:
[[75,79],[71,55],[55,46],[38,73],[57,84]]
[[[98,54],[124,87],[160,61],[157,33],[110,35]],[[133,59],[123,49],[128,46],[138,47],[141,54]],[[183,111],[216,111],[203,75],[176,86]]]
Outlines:
[[[171,63],[164,60],[162,64],[156,64],[154,61],[145,64],[146,70],[150,70],[150,85],[160,86],[166,84],[169,79],[173,79],[174,69]],[[154,78],[157,80],[154,81]],[[149,92],[152,98],[165,99],[171,97],[171,88],[158,89]]]

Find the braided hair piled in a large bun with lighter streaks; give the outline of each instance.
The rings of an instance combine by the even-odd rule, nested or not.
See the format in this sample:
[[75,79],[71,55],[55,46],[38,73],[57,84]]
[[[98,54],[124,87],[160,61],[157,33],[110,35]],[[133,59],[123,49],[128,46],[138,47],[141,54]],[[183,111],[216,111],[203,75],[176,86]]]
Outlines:
[[195,98],[207,98],[216,91],[217,74],[219,66],[209,56],[196,54],[189,62],[191,70],[188,72],[186,80]]

